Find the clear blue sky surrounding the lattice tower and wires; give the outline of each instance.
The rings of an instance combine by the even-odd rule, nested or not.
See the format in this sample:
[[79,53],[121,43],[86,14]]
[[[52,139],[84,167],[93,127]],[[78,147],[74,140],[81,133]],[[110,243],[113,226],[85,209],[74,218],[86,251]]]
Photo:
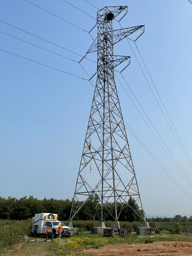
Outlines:
[[[95,19],[65,1],[31,2],[86,31],[90,31],[96,24]],[[96,18],[97,9],[85,1],[68,2]],[[99,9],[105,6],[127,5],[128,13],[121,21],[122,27],[145,25],[145,33],[136,41],[137,47],[192,160],[192,5],[187,0],[88,2]],[[1,0],[0,5],[1,21],[82,56],[93,42],[86,31],[27,1]],[[74,61],[81,59],[72,52],[3,22],[0,22],[0,31],[4,33]],[[113,27],[119,28],[115,23]],[[91,35],[95,39],[97,29],[94,29]],[[74,61],[9,35],[0,33],[0,37],[0,49],[4,51],[86,79],[89,79],[86,72],[90,76],[96,72],[96,63],[92,61],[83,60],[83,70]],[[131,41],[130,44],[154,90],[136,46]],[[4,51],[0,51],[1,196],[21,198],[33,195],[39,199],[46,197],[71,200],[94,88],[87,80]],[[182,171],[192,182],[191,166],[161,113],[127,40],[124,39],[115,45],[114,54],[131,56],[131,64],[122,74]],[[96,60],[97,56],[90,54],[88,58]],[[117,76],[144,116],[125,81],[119,74]],[[116,85],[124,120],[174,179],[192,195],[191,186],[159,145],[117,79]],[[155,91],[154,93],[157,96]],[[149,121],[146,121],[154,131]],[[127,136],[145,213],[162,216],[192,215],[191,199],[163,173],[128,130]],[[60,179],[63,180],[62,187],[58,186]]]

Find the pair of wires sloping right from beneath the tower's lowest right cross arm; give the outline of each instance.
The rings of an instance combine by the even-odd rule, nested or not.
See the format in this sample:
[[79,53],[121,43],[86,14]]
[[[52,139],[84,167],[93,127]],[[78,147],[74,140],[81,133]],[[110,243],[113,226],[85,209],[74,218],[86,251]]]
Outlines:
[[[121,73],[120,73],[121,74]],[[122,75],[122,74],[121,74]],[[116,76],[117,77],[117,76]],[[123,75],[122,75],[123,77]],[[117,77],[118,79],[118,77]],[[125,80],[125,78],[123,77],[125,83],[127,84],[127,86],[129,87],[127,81]],[[118,81],[120,82],[120,80],[118,79]],[[123,89],[125,90],[124,86],[122,85],[122,83],[120,82],[121,86],[123,87]],[[129,89],[131,90],[131,88],[129,87]],[[125,90],[126,94],[128,95],[129,99],[131,100],[131,102],[134,104],[134,102],[132,101],[131,97],[129,96],[129,94],[127,93],[127,91]],[[134,93],[131,90],[131,93],[134,95]],[[134,95],[136,101],[138,102],[138,99],[136,98],[136,96]],[[141,104],[138,102],[139,106],[141,107],[141,109],[143,110],[143,112],[145,113],[144,109],[142,108]],[[136,105],[134,104],[134,106],[136,107]],[[139,112],[139,114],[141,115],[141,117],[143,118],[143,120],[145,121],[145,118],[143,117],[143,115],[141,114],[141,112],[138,110],[138,108],[136,107],[137,111]],[[155,129],[154,125],[152,124],[151,120],[149,119],[149,117],[147,116],[147,114],[145,113],[147,119],[150,121],[151,125],[153,126],[153,128]],[[166,146],[166,144],[164,143],[163,139],[161,138],[161,136],[159,135],[159,133],[157,132],[157,130],[155,129],[155,131],[157,132],[159,138],[161,139],[161,141],[163,142],[163,144],[166,146],[168,152],[170,153],[170,155],[173,157],[173,159],[171,159],[171,157],[169,156],[169,154],[167,153],[167,151],[164,149],[163,145],[161,144],[161,142],[158,140],[157,136],[154,134],[154,132],[152,131],[152,129],[150,128],[150,126],[147,124],[147,122],[145,121],[146,125],[149,127],[150,131],[152,132],[152,134],[155,136],[155,138],[157,139],[157,141],[159,142],[159,144],[161,145],[161,147],[163,148],[163,150],[166,152],[166,154],[168,155],[168,157],[170,158],[170,160],[173,162],[173,164],[176,166],[176,164],[174,163],[173,159],[175,160],[175,158],[173,157],[173,155],[171,154],[170,150],[168,149],[168,147]],[[175,160],[175,162],[177,163],[177,161]],[[177,165],[179,166],[179,164],[177,163]],[[176,168],[179,170],[179,168],[181,169],[181,167],[179,166],[179,168],[176,166]],[[181,169],[182,170],[182,169]],[[181,173],[181,171],[179,170],[179,172]],[[183,171],[182,171],[183,172]],[[182,173],[181,173],[182,174]],[[182,174],[182,176],[184,177],[184,175]],[[186,176],[186,175],[185,175]],[[186,179],[186,177],[184,177]],[[188,179],[186,179],[186,181],[192,186],[191,182],[188,181]]]

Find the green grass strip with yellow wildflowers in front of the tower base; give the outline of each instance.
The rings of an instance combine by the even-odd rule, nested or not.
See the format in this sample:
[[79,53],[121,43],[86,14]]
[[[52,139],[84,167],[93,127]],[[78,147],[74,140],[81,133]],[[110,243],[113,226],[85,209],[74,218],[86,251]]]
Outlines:
[[[135,232],[131,233],[131,237],[103,237],[102,234],[91,234],[90,232],[82,232],[78,235],[71,236],[70,240],[65,240],[64,245],[58,245],[59,239],[54,239],[53,242],[47,243],[43,241],[28,241],[25,243],[18,243],[14,250],[7,250],[2,256],[55,256],[55,255],[70,255],[70,256],[83,256],[82,249],[85,248],[99,248],[107,244],[115,243],[153,243],[154,241],[186,241],[192,242],[192,237],[168,234],[164,231],[160,235],[166,235],[166,237],[141,237],[135,235]],[[169,237],[167,237],[169,236]],[[30,239],[34,239],[30,237]],[[44,240],[44,237],[40,237]],[[69,239],[69,238],[68,238]],[[77,253],[78,252],[78,253]],[[88,256],[88,254],[86,254]]]

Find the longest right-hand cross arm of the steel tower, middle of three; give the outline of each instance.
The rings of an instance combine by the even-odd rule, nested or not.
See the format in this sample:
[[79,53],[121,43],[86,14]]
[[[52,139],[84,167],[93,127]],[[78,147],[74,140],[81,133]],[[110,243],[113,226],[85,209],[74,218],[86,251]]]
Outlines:
[[135,27],[126,28],[126,29],[113,30],[113,45],[115,45],[116,43],[118,43],[122,39],[126,38],[127,36],[131,35],[135,31],[138,31],[139,29],[141,30],[141,34],[143,34],[144,26],[145,25],[135,26]]

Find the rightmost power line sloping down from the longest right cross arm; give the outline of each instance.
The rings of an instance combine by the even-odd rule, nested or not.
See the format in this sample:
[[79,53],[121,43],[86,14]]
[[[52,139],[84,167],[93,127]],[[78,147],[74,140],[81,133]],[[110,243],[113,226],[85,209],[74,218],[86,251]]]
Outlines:
[[[135,43],[135,42],[134,42]],[[136,45],[136,43],[135,43],[135,45]],[[140,56],[141,56],[141,53],[140,53],[140,51],[139,51],[139,49],[138,49],[138,47],[137,47],[137,45],[136,45],[136,48],[137,48],[137,50],[138,50],[138,52],[139,52],[139,54],[140,54]],[[142,61],[143,61],[143,58],[142,58],[142,56],[141,56],[141,59],[142,59]],[[144,65],[145,65],[145,62],[143,61],[143,63],[144,63]],[[145,68],[146,68],[146,70],[147,70],[147,72],[148,72],[148,74],[149,74],[149,76],[150,76],[150,79],[151,79],[151,81],[152,81],[152,83],[153,83],[153,85],[154,85],[154,88],[155,88],[155,90],[156,90],[156,92],[157,92],[157,94],[158,94],[158,96],[159,96],[159,99],[161,100],[161,103],[162,103],[162,105],[163,105],[163,107],[164,107],[164,109],[165,109],[165,111],[166,111],[166,113],[167,113],[167,115],[168,115],[168,118],[169,118],[169,120],[170,120],[170,122],[171,122],[171,124],[173,125],[173,122],[172,122],[172,120],[170,119],[170,116],[169,116],[169,114],[168,114],[168,112],[167,112],[167,110],[166,110],[166,108],[165,108],[165,105],[163,104],[163,101],[162,101],[162,99],[161,99],[161,97],[160,97],[160,95],[159,95],[159,93],[158,93],[158,91],[157,91],[157,88],[156,88],[156,86],[155,86],[155,84],[154,84],[154,82],[153,82],[153,79],[152,79],[152,77],[151,77],[151,75],[150,75],[150,73],[149,73],[149,71],[148,71],[148,69],[147,69],[147,67],[146,67],[146,65],[145,65]],[[151,87],[150,87],[151,88]],[[151,90],[152,90],[152,88],[151,88]],[[156,101],[157,101],[157,98],[155,97],[155,99],[156,99]],[[158,101],[157,101],[158,102]],[[158,104],[159,104],[159,102],[158,102]],[[160,109],[161,109],[161,107],[160,107]],[[162,111],[162,113],[163,113],[163,110],[161,109],[161,111]],[[163,115],[164,115],[164,113],[163,113]],[[168,120],[167,120],[167,118],[166,118],[166,116],[164,115],[164,117],[165,117],[165,119],[166,119],[166,121],[167,121],[167,123],[168,123],[168,125],[169,125],[169,127],[170,127],[170,129],[171,129],[171,131],[173,132],[173,135],[175,136],[175,133],[174,133],[174,131],[173,131],[173,129],[171,128],[171,126],[170,126],[170,124],[169,124],[169,122],[168,122]],[[178,138],[179,138],[179,141],[181,142],[181,144],[182,144],[182,146],[183,146],[183,148],[184,148],[184,150],[185,150],[185,152],[186,152],[186,149],[185,149],[185,147],[184,147],[184,145],[183,145],[183,143],[182,143],[182,141],[181,141],[181,139],[180,139],[180,137],[179,137],[179,135],[178,135],[178,133],[177,133],[177,131],[176,131],[176,129],[175,129],[175,126],[173,125],[173,128],[174,128],[174,130],[175,130],[175,132],[176,132],[176,134],[177,134],[177,136],[178,136]],[[180,145],[180,143],[179,143],[179,141],[178,141],[178,139],[177,139],[177,137],[175,136],[175,139],[177,140],[177,143],[179,144],[179,147],[181,148],[181,150],[182,150],[182,152],[183,152],[183,154],[184,154],[184,156],[186,157],[186,154],[187,154],[187,152],[186,152],[186,154],[184,153],[184,151],[183,151],[183,149],[182,149],[182,147],[181,147],[181,145]],[[188,156],[188,158],[189,158],[189,155],[187,154],[187,156]],[[190,160],[190,162],[189,162],[189,160],[188,160],[188,158],[186,157],[186,159],[187,159],[187,161],[188,161],[188,163],[189,163],[189,165],[191,166],[191,168],[192,168],[192,162],[191,162],[191,159],[189,158],[189,160]]]

